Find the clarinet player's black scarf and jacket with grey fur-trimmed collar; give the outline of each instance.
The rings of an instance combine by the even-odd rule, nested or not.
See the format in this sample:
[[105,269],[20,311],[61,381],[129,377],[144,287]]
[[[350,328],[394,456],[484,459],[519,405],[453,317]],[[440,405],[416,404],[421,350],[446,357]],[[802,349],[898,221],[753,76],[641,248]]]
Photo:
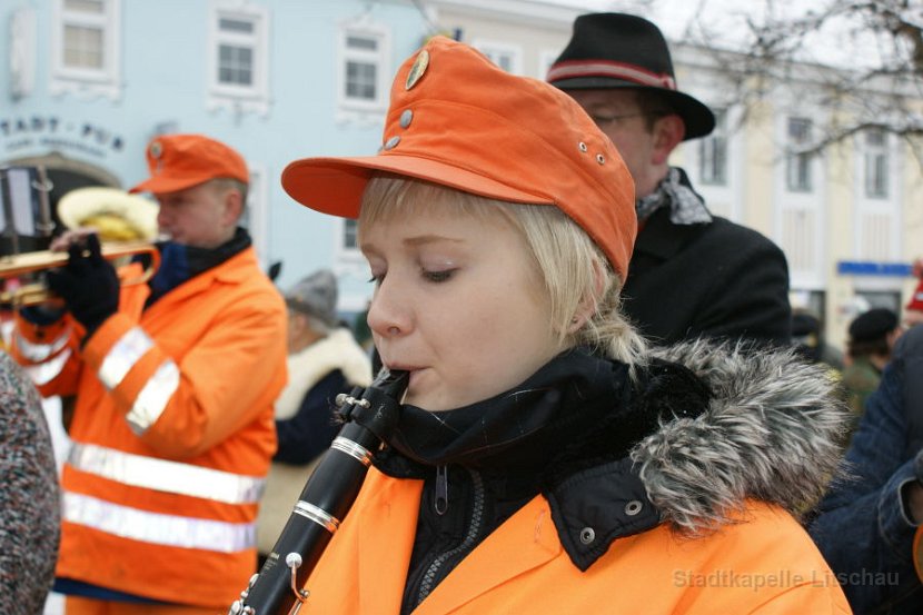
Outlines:
[[[572,350],[465,408],[403,406],[374,460],[424,480],[401,613],[539,493],[582,571],[661,523],[718,527],[746,497],[788,510],[816,500],[847,420],[824,375],[792,350],[699,341],[656,349],[629,380],[626,366]],[[598,539],[584,543],[586,527]]]

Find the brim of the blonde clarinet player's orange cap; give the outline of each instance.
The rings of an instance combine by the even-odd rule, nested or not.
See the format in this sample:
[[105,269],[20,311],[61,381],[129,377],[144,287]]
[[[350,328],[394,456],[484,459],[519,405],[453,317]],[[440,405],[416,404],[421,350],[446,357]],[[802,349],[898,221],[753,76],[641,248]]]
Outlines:
[[548,195],[510,188],[448,162],[400,153],[296,160],[282,171],[282,188],[291,198],[317,211],[358,218],[363,192],[375,171],[423,179],[498,200],[554,205]]

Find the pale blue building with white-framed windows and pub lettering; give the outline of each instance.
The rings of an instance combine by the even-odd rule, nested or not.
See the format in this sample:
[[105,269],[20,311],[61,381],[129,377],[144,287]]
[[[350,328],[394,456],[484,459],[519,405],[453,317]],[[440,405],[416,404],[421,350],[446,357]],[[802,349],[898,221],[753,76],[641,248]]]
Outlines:
[[[43,166],[53,206],[147,177],[156,135],[222,140],[248,161],[246,224],[282,287],[349,260],[341,222],[292,201],[282,169],[374,153],[391,77],[427,31],[400,0],[10,0],[0,22],[0,165]],[[370,288],[350,271],[346,310]]]

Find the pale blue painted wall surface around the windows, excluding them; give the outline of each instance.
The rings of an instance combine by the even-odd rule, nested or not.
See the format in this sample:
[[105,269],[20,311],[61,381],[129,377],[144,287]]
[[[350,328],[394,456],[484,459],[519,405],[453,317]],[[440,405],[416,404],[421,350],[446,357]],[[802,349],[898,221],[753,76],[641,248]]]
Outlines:
[[[221,2],[229,4],[229,2]],[[210,2],[121,0],[122,89],[117,100],[81,93],[52,95],[53,1],[0,3],[0,49],[9,53],[14,11],[36,16],[34,86],[13,100],[9,62],[0,62],[0,163],[59,151],[71,161],[100,168],[122,187],[147,177],[143,149],[158,126],[204,132],[239,149],[264,171],[267,226],[262,259],[284,261],[277,280],[287,287],[317,267],[335,266],[338,225],[300,207],[281,189],[285,166],[305,156],[374,153],[383,115],[363,121],[337,116],[335,77],[338,24],[368,11],[391,34],[388,82],[400,62],[419,47],[423,17],[411,2],[354,0],[249,0],[269,16],[268,113],[208,110],[208,22]],[[357,276],[341,279],[340,295],[351,309],[370,292]],[[341,302],[343,305],[343,302]]]

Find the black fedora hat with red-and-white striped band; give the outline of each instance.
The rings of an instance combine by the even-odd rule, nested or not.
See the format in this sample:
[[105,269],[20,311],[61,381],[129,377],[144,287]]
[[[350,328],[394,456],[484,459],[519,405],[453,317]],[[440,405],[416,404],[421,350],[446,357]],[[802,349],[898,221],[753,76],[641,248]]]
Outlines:
[[683,118],[684,139],[704,137],[715,128],[712,110],[676,89],[673,61],[661,30],[634,14],[579,16],[570,42],[548,70],[547,81],[562,90],[657,90]]

